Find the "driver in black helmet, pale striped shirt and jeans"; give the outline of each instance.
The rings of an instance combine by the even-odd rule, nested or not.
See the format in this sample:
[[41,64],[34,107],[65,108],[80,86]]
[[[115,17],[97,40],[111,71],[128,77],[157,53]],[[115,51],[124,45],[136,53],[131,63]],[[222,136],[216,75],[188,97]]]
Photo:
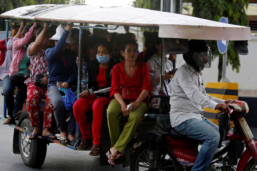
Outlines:
[[[211,50],[204,40],[190,40],[188,52],[183,54],[185,64],[176,72],[170,98],[171,126],[186,137],[203,141],[192,171],[207,171],[219,145],[219,127],[203,117],[203,107],[230,112],[227,103],[208,95],[202,70],[210,68]],[[231,112],[230,112],[231,113]]]

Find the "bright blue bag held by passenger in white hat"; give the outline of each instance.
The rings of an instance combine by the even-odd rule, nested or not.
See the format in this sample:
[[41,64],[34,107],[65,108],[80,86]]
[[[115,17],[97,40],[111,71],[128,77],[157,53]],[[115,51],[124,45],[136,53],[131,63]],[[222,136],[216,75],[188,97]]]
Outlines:
[[60,87],[59,90],[65,93],[65,95],[62,96],[65,109],[72,110],[72,106],[74,105],[75,101],[77,100],[77,97],[75,96],[75,94],[72,92],[72,90],[70,88],[67,90],[65,88]]

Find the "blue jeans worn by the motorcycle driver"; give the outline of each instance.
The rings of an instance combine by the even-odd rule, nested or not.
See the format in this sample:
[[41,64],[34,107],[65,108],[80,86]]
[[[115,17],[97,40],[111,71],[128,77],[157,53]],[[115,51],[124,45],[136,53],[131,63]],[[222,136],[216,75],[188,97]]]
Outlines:
[[219,145],[219,127],[202,118],[185,120],[174,129],[186,137],[203,141],[202,147],[192,167],[192,171],[207,171]]

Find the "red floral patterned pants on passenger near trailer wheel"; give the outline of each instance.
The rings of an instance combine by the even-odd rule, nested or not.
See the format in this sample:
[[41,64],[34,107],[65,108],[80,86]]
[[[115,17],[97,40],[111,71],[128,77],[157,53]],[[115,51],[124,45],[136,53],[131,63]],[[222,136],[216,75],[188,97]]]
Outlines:
[[52,127],[52,114],[53,114],[53,105],[47,97],[47,88],[35,86],[34,82],[30,83],[27,87],[27,109],[30,115],[31,126],[39,125],[39,102],[42,98],[46,98],[46,105],[44,109],[44,127]]

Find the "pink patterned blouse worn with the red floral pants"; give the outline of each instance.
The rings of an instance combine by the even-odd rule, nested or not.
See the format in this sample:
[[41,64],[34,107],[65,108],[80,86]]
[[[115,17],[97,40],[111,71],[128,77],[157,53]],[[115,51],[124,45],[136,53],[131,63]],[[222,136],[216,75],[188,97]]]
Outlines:
[[30,56],[30,48],[35,42],[30,43],[30,45],[27,48],[27,56],[30,57],[30,77],[24,82],[25,84],[29,85],[30,83],[34,82],[34,78],[36,74],[44,75],[44,73],[47,73],[47,59],[45,50],[39,49],[39,51]]

